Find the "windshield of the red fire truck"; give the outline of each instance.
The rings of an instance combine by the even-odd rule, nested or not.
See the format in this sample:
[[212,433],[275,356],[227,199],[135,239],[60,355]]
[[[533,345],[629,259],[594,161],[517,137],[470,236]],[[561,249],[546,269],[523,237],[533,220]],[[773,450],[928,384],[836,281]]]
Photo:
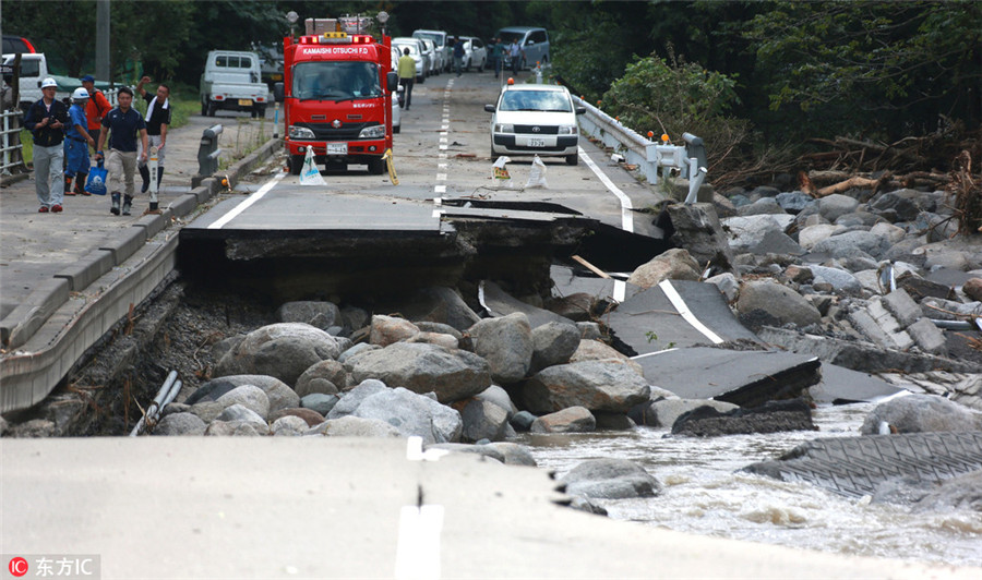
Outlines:
[[292,94],[300,100],[350,100],[382,96],[379,65],[372,62],[300,62]]

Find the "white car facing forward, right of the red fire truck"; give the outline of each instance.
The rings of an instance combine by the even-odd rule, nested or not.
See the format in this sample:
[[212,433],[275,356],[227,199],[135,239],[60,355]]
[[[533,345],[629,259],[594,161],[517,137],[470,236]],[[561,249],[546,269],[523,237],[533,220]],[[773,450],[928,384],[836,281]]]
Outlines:
[[484,105],[491,117],[491,158],[499,155],[565,157],[577,165],[579,128],[570,90],[559,85],[506,85],[498,105]]

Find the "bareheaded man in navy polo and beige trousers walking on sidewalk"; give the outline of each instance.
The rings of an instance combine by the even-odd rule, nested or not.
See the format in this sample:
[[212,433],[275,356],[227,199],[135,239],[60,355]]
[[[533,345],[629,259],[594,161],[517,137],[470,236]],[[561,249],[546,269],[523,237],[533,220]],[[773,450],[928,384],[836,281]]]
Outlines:
[[[129,216],[133,206],[134,177],[136,174],[137,160],[146,160],[146,121],[136,112],[133,105],[133,89],[124,86],[119,89],[117,96],[119,106],[110,110],[103,118],[103,131],[99,133],[99,144],[96,147],[96,160],[103,159],[103,147],[109,141],[109,156],[106,159],[106,169],[109,170],[108,185],[112,193],[112,205],[109,212],[118,216]],[[136,138],[143,145],[143,150],[136,153]],[[123,183],[125,193],[123,194]],[[120,197],[125,195],[122,207]]]

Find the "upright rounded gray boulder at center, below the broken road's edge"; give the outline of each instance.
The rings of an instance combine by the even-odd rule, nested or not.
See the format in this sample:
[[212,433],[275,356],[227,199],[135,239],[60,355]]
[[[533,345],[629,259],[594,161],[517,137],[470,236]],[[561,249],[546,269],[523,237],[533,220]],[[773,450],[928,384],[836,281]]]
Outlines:
[[469,334],[475,354],[488,361],[495,383],[510,385],[525,378],[532,358],[532,333],[525,313],[484,318]]

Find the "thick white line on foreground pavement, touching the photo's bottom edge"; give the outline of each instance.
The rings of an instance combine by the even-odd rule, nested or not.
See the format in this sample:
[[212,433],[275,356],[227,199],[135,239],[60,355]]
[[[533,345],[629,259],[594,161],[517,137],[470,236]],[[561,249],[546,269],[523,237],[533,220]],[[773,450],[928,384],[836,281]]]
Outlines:
[[441,505],[403,506],[396,544],[397,580],[439,580],[444,512]]

